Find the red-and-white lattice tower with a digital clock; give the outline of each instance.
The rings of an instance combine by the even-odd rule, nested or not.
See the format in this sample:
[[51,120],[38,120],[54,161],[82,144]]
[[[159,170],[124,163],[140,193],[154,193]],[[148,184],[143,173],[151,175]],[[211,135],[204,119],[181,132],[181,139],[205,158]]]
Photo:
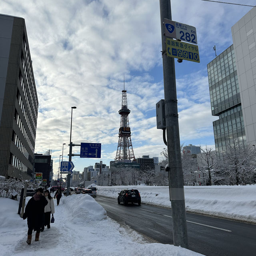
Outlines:
[[128,114],[130,109],[127,106],[127,95],[126,90],[122,90],[122,108],[118,111],[121,115],[121,122],[119,128],[119,140],[116,151],[116,161],[123,162],[123,160],[135,160],[132,140],[131,140],[131,129],[129,127]]

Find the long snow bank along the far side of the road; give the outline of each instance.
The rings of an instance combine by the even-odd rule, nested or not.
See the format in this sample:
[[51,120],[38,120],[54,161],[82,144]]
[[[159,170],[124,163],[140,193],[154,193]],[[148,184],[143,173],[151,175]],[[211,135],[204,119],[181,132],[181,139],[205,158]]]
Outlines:
[[[124,188],[138,189],[141,202],[171,207],[167,186],[96,186],[97,194],[117,198]],[[256,223],[256,185],[184,186],[188,212]]]

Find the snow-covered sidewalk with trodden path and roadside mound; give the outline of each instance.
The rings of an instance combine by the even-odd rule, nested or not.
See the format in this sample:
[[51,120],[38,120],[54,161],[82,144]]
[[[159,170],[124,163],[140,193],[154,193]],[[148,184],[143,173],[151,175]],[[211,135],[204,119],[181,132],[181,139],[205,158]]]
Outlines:
[[[26,202],[30,197],[26,198]],[[55,204],[55,223],[40,233],[39,242],[26,243],[27,221],[20,218],[18,201],[0,198],[0,252],[4,256],[196,256],[202,255],[168,244],[148,243],[120,226],[87,194],[62,197]]]

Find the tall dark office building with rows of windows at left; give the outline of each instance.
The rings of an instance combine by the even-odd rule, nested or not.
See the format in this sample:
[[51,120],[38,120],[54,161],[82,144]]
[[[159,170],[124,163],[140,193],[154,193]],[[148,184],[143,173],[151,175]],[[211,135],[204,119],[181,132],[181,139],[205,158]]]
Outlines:
[[0,175],[32,179],[37,113],[25,20],[0,14]]

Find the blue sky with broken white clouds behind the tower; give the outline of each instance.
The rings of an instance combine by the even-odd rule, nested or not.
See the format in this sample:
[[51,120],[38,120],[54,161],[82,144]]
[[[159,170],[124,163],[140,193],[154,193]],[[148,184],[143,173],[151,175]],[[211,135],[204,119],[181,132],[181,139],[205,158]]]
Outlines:
[[[231,27],[252,7],[172,0],[171,8],[172,20],[196,27],[200,53],[200,63],[175,60],[180,142],[214,149],[218,118],[211,115],[207,64],[214,46],[218,55],[232,44]],[[0,13],[26,22],[39,102],[35,152],[52,150],[54,178],[63,143],[68,161],[72,106],[72,142],[102,144],[101,159],[74,156],[74,170],[114,160],[124,79],[135,158],[160,157],[166,146],[156,129],[156,103],[164,98],[159,1],[2,0]]]

